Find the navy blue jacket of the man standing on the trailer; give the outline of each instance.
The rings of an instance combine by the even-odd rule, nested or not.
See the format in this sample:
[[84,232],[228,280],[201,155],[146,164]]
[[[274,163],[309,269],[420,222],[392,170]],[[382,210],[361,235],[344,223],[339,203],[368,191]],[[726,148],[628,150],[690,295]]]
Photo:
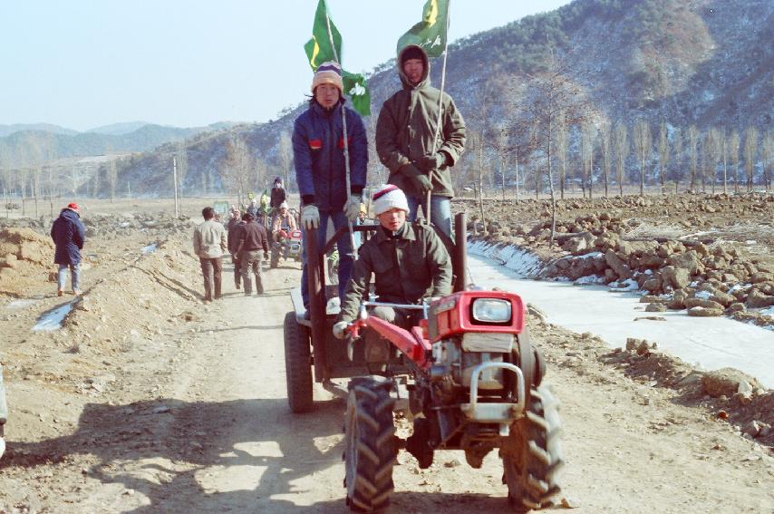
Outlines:
[[[342,112],[347,121],[350,155],[350,187],[361,194],[368,165],[368,141],[363,120],[357,112],[339,102],[326,112],[312,102],[295,120],[293,156],[295,179],[302,199],[314,201],[320,210],[342,210],[350,191],[346,190],[343,152]],[[309,199],[314,196],[314,200]]]

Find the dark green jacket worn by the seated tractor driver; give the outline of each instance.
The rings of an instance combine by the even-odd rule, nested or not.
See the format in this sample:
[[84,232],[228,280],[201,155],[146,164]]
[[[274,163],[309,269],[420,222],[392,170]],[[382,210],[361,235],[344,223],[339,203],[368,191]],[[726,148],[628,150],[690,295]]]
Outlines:
[[353,321],[375,275],[380,302],[418,304],[422,298],[451,293],[451,259],[435,231],[423,224],[406,223],[392,237],[382,228],[360,247],[339,314]]

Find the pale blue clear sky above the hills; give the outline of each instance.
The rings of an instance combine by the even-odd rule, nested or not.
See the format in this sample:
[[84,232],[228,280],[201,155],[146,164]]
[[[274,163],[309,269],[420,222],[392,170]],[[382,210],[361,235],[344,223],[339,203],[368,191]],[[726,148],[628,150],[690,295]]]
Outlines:
[[[568,0],[452,0],[450,41]],[[317,0],[0,0],[0,124],[268,121],[305,99]],[[424,0],[328,0],[343,68],[370,72]]]

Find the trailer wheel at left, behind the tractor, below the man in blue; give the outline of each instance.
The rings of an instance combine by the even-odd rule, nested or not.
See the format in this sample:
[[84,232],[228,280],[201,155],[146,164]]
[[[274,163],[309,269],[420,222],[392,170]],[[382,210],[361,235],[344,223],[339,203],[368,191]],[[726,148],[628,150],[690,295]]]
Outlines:
[[309,333],[298,325],[295,312],[285,315],[285,381],[287,402],[295,413],[312,409],[312,354]]

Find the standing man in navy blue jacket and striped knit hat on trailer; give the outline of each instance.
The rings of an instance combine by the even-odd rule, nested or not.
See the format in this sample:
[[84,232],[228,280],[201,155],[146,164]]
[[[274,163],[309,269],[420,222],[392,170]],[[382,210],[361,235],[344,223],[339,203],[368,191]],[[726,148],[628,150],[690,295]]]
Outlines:
[[[342,70],[337,63],[322,63],[314,73],[313,97],[309,109],[295,120],[293,155],[295,178],[301,194],[301,225],[317,229],[318,247],[322,247],[331,219],[334,228],[347,226],[360,210],[368,164],[368,141],[363,120],[344,106]],[[346,189],[346,166],[342,111],[346,120],[349,149],[350,190]],[[349,234],[338,238],[339,296],[349,280],[353,248]],[[309,305],[306,284],[306,255],[303,254],[301,294]]]

